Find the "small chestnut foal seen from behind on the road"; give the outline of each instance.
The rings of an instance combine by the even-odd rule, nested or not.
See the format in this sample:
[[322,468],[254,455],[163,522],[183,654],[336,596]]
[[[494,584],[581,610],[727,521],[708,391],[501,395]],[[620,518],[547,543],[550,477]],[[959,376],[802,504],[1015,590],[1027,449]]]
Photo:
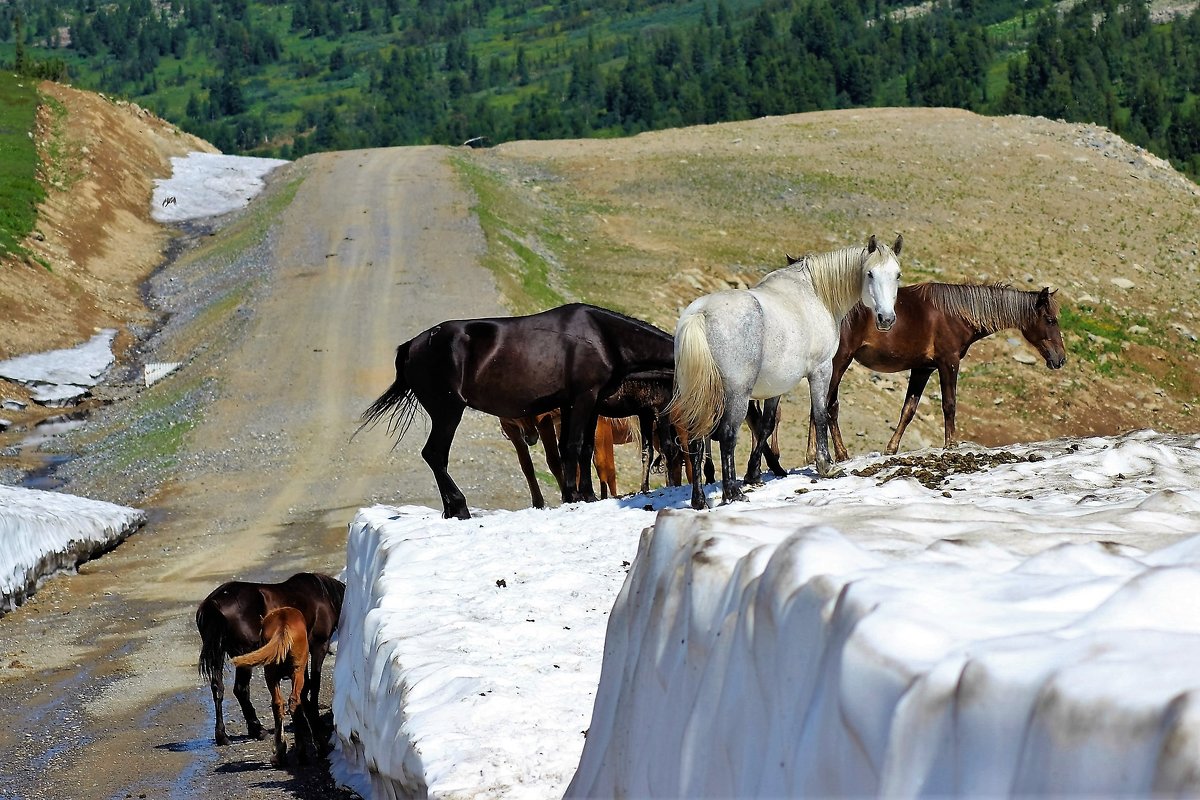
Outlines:
[[[230,661],[236,668],[262,667],[266,676],[266,690],[271,693],[271,712],[275,715],[275,756],[271,764],[283,766],[288,746],[283,742],[283,714],[292,715],[292,727],[296,735],[296,758],[305,762],[308,745],[316,745],[312,726],[308,723],[300,693],[304,691],[304,672],[308,666],[308,632],[304,614],[290,606],[266,612],[263,618],[263,646]],[[283,702],[282,680],[292,681],[292,696]],[[307,736],[307,739],[305,739]],[[306,745],[307,741],[307,745]]]

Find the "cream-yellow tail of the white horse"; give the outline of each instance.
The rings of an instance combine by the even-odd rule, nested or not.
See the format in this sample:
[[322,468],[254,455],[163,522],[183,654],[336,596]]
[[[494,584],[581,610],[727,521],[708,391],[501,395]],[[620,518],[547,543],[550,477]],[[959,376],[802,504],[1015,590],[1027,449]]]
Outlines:
[[703,312],[684,319],[676,331],[676,379],[667,410],[697,438],[707,438],[725,411],[725,381],[708,347]]

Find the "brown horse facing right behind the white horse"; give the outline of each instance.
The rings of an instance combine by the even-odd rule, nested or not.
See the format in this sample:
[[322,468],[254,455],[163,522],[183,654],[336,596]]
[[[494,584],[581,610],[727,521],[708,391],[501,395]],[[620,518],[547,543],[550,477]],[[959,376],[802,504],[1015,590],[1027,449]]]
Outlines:
[[[851,361],[876,372],[911,371],[900,420],[884,450],[887,455],[894,455],[900,449],[900,439],[935,369],[942,385],[944,446],[954,447],[958,444],[954,416],[958,409],[959,363],[972,344],[1009,327],[1021,331],[1050,369],[1058,369],[1066,363],[1067,350],[1058,327],[1058,301],[1049,288],[1026,291],[1006,284],[958,283],[902,287],[896,294],[896,321],[890,331],[875,330],[865,308],[851,309],[842,321],[841,342],[833,359],[833,380],[829,383],[829,426],[835,458],[845,461],[848,457],[838,426],[838,385]],[[811,450],[811,435],[809,446]]]

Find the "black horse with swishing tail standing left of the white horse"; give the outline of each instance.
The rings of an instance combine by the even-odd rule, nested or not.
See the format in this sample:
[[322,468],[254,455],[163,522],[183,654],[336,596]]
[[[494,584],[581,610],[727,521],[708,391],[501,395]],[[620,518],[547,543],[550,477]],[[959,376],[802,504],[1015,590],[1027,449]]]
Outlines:
[[670,377],[673,369],[670,333],[596,306],[445,321],[396,349],[396,380],[364,411],[359,429],[389,416],[389,432],[403,437],[420,404],[430,417],[421,456],[437,480],[443,516],[467,519],[467,499],[446,470],[463,410],[523,417],[562,409],[563,503],[592,501],[598,403],[626,378]]

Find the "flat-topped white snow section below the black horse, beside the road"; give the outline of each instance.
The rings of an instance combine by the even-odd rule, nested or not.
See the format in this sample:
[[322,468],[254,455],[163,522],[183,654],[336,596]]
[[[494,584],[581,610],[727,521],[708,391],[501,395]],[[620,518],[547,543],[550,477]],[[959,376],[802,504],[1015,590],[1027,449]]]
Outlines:
[[350,525],[334,672],[335,776],[366,798],[562,794],[612,599],[654,521],[407,506]]

